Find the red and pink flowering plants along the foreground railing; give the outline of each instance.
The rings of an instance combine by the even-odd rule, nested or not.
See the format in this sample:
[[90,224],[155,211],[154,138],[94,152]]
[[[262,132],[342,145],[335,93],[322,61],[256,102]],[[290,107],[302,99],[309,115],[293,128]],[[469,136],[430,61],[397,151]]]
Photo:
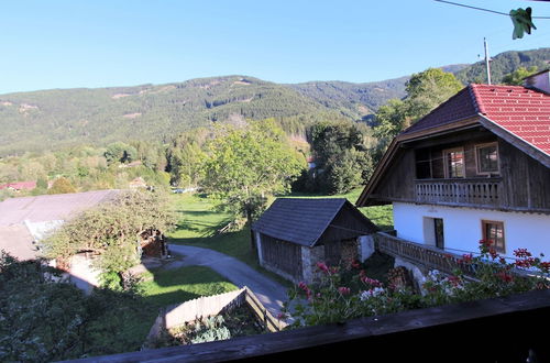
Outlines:
[[[506,296],[550,288],[550,263],[534,257],[526,249],[514,251],[508,262],[498,254],[492,241],[480,241],[480,254],[465,254],[462,268],[447,275],[431,271],[420,292],[366,276],[362,264],[352,262],[350,271],[317,263],[320,280],[298,284],[290,290],[285,312],[295,318],[293,326],[339,323],[349,319],[432,307],[452,302]],[[366,262],[369,263],[369,262]],[[464,271],[473,272],[465,275]],[[352,278],[344,278],[346,275]],[[288,311],[292,306],[293,311]]]

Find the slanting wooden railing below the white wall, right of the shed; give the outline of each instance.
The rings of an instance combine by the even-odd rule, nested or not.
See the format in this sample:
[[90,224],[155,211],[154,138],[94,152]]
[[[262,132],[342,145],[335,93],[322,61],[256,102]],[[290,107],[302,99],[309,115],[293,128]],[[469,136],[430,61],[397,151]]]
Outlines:
[[474,265],[460,263],[462,256],[449,253],[441,249],[426,244],[403,240],[391,234],[378,232],[375,234],[376,250],[394,257],[406,260],[427,270],[439,270],[447,274],[453,274],[461,270],[465,275],[474,275]]

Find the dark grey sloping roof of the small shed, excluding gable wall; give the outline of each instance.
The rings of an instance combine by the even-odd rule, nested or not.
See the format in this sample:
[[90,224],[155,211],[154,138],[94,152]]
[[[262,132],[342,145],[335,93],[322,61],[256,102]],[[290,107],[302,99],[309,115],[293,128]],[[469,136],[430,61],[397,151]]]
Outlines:
[[364,221],[362,231],[353,231],[355,235],[366,234],[375,229],[374,224],[344,198],[278,198],[253,223],[252,230],[278,240],[312,246],[344,206],[361,215]]

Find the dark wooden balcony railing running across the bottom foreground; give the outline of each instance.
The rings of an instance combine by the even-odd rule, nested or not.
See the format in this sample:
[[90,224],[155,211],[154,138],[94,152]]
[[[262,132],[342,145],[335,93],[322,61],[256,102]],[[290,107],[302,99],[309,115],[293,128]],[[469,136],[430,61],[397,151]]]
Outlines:
[[[550,290],[82,362],[550,362]],[[542,330],[543,331],[543,330]],[[333,358],[336,355],[336,358]]]

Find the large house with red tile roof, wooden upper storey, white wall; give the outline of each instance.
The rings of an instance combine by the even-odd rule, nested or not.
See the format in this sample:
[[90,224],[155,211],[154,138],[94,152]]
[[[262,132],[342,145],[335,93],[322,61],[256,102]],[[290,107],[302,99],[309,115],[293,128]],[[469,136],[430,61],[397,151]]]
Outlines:
[[550,256],[549,72],[525,87],[471,84],[402,132],[356,202],[388,204],[389,250],[462,255],[491,240],[504,256]]

